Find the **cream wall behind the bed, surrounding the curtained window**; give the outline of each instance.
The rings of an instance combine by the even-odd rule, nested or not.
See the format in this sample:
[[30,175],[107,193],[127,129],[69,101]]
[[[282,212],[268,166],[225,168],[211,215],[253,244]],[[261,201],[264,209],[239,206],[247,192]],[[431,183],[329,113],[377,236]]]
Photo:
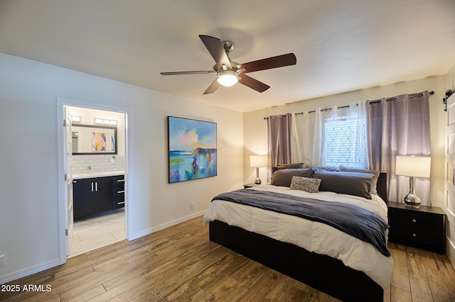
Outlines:
[[[344,94],[326,96],[319,99],[299,101],[284,106],[264,108],[250,111],[243,115],[244,135],[244,174],[245,183],[255,179],[256,170],[250,167],[250,155],[261,152],[267,153],[267,121],[265,116],[311,111],[316,108],[331,108],[331,106],[345,106],[359,101],[380,99],[383,97],[412,94],[420,91],[434,91],[429,97],[430,120],[432,135],[432,172],[431,172],[431,201],[433,206],[442,206],[444,202],[444,146],[445,146],[445,112],[442,99],[446,91],[446,77],[434,76],[417,79],[409,82],[398,82],[386,86],[375,86],[370,89],[350,91]],[[267,169],[259,169],[259,177],[267,177]]]

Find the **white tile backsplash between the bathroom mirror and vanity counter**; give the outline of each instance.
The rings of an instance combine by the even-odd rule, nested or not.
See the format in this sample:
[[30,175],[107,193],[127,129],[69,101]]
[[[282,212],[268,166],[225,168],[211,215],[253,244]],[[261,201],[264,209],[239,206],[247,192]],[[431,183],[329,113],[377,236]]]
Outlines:
[[88,167],[93,172],[124,171],[125,157],[115,155],[115,162],[112,163],[113,155],[73,155],[73,174],[84,174]]

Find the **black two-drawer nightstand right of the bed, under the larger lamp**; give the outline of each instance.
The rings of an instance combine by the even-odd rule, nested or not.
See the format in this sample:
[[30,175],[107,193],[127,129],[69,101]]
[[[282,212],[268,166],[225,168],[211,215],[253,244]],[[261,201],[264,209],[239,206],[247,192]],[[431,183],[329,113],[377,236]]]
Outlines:
[[447,216],[441,208],[387,201],[389,241],[439,254],[446,252]]

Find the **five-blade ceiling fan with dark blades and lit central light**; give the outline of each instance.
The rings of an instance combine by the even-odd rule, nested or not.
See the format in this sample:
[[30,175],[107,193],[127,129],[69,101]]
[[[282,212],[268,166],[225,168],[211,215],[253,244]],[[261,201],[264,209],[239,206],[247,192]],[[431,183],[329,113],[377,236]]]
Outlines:
[[221,42],[220,39],[210,37],[210,35],[199,35],[199,38],[215,60],[216,64],[213,66],[213,70],[161,72],[161,74],[216,74],[217,77],[215,81],[208,86],[208,89],[204,91],[204,94],[213,94],[220,85],[232,86],[237,82],[248,86],[251,89],[255,89],[258,92],[264,92],[269,89],[270,86],[247,76],[246,73],[296,64],[296,56],[294,53],[277,55],[276,57],[268,57],[267,59],[239,64],[231,61],[229,57],[229,52],[235,47],[234,43],[230,41]]

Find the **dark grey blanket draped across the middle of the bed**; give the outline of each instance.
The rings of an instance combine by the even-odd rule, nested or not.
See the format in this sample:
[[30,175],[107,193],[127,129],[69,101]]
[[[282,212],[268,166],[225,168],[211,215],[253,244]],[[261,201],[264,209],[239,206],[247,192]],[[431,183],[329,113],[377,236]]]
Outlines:
[[359,206],[245,189],[219,194],[212,201],[215,199],[325,223],[372,244],[382,255],[390,257],[385,240],[387,223],[375,213]]

